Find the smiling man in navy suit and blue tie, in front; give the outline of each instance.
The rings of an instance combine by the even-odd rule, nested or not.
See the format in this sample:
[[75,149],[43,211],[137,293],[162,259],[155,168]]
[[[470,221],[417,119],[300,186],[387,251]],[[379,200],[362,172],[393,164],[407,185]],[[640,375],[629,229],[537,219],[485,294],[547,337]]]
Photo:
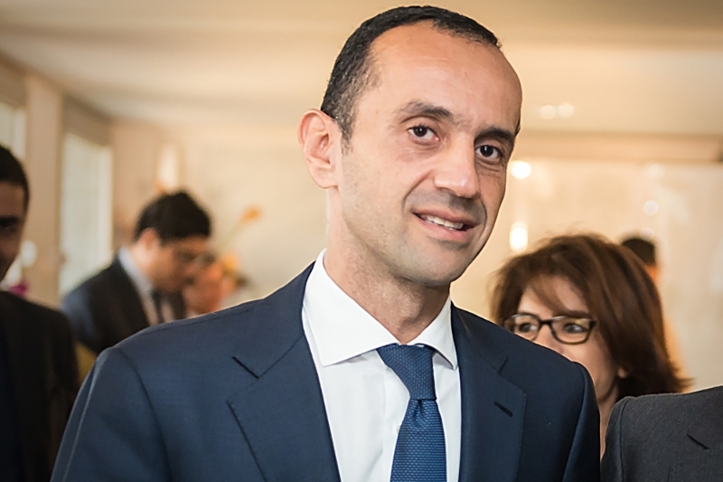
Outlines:
[[362,24],[298,131],[326,250],[268,298],[102,354],[54,480],[596,480],[587,372],[449,300],[492,232],[520,108],[474,20]]

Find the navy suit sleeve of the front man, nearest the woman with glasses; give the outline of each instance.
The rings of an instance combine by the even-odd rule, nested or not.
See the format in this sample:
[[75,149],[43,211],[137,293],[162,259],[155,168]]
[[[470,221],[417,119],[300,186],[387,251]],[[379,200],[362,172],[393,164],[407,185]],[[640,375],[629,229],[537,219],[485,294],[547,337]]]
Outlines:
[[590,375],[582,365],[575,365],[580,374],[583,396],[575,437],[562,480],[563,482],[596,481],[600,479],[600,415]]

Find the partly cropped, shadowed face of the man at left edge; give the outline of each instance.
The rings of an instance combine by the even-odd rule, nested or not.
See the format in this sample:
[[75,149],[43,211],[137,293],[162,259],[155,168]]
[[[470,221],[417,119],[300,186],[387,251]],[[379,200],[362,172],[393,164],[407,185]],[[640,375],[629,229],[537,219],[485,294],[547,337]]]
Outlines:
[[0,279],[5,278],[20,250],[25,224],[24,195],[19,185],[0,182]]

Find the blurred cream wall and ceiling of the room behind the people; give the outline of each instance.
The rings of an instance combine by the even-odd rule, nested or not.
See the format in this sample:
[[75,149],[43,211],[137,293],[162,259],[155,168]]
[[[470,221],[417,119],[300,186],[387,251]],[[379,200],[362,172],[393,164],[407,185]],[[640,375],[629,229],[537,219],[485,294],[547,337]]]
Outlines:
[[[246,281],[227,303],[284,285],[325,243],[296,122],[346,37],[394,5],[0,0],[0,144],[33,193],[5,284],[57,305],[184,188]],[[642,235],[694,388],[723,384],[723,2],[436,5],[496,33],[524,92],[502,212],[455,303],[488,316],[494,270],[552,234]]]

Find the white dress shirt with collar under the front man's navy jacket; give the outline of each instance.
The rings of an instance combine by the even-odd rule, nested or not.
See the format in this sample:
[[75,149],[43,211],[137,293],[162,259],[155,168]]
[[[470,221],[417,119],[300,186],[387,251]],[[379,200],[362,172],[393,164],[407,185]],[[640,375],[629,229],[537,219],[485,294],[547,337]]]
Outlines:
[[[389,481],[409,393],[376,349],[399,341],[329,278],[324,252],[306,281],[302,320],[324,394],[339,472],[342,482]],[[432,364],[445,430],[447,481],[456,481],[462,395],[449,299],[409,345],[437,350]]]

